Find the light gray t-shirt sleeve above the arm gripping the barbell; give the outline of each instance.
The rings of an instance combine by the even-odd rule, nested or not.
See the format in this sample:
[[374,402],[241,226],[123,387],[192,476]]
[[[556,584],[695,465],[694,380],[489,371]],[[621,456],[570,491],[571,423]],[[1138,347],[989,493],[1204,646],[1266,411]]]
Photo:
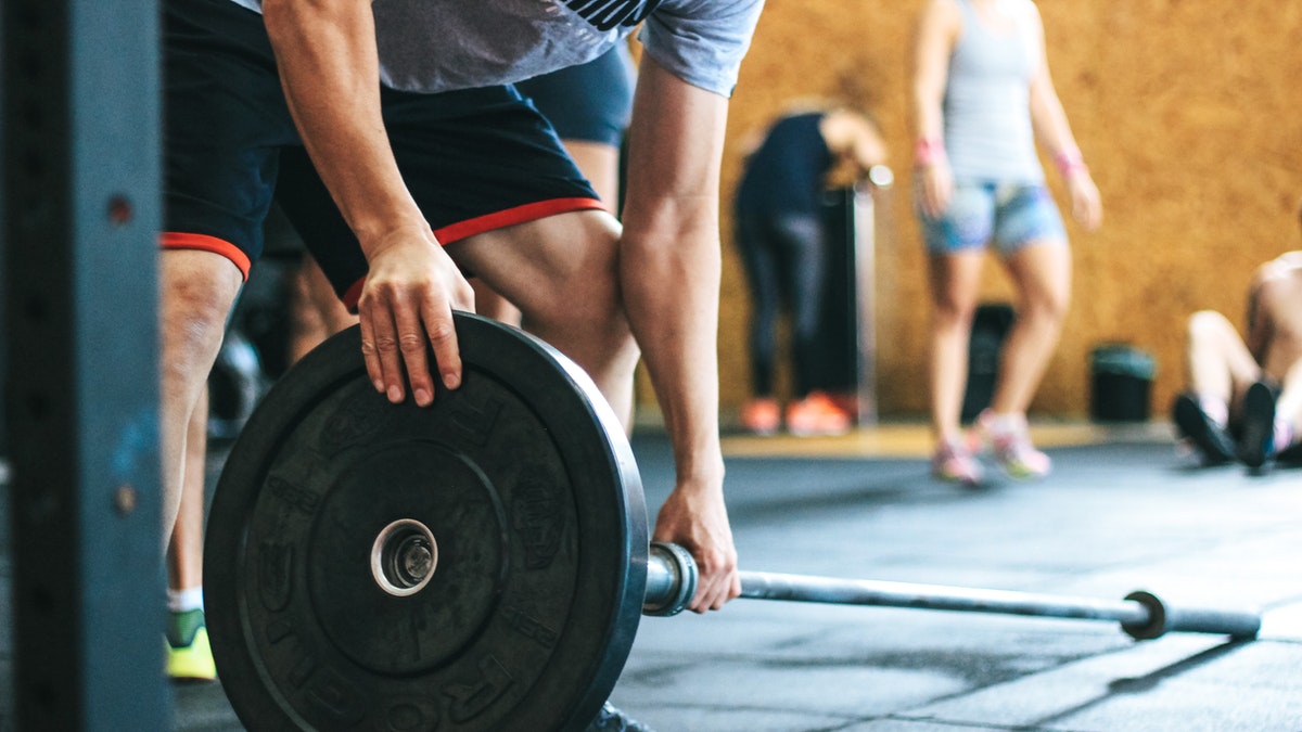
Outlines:
[[763,8],[764,0],[664,0],[638,40],[673,76],[732,96]]

